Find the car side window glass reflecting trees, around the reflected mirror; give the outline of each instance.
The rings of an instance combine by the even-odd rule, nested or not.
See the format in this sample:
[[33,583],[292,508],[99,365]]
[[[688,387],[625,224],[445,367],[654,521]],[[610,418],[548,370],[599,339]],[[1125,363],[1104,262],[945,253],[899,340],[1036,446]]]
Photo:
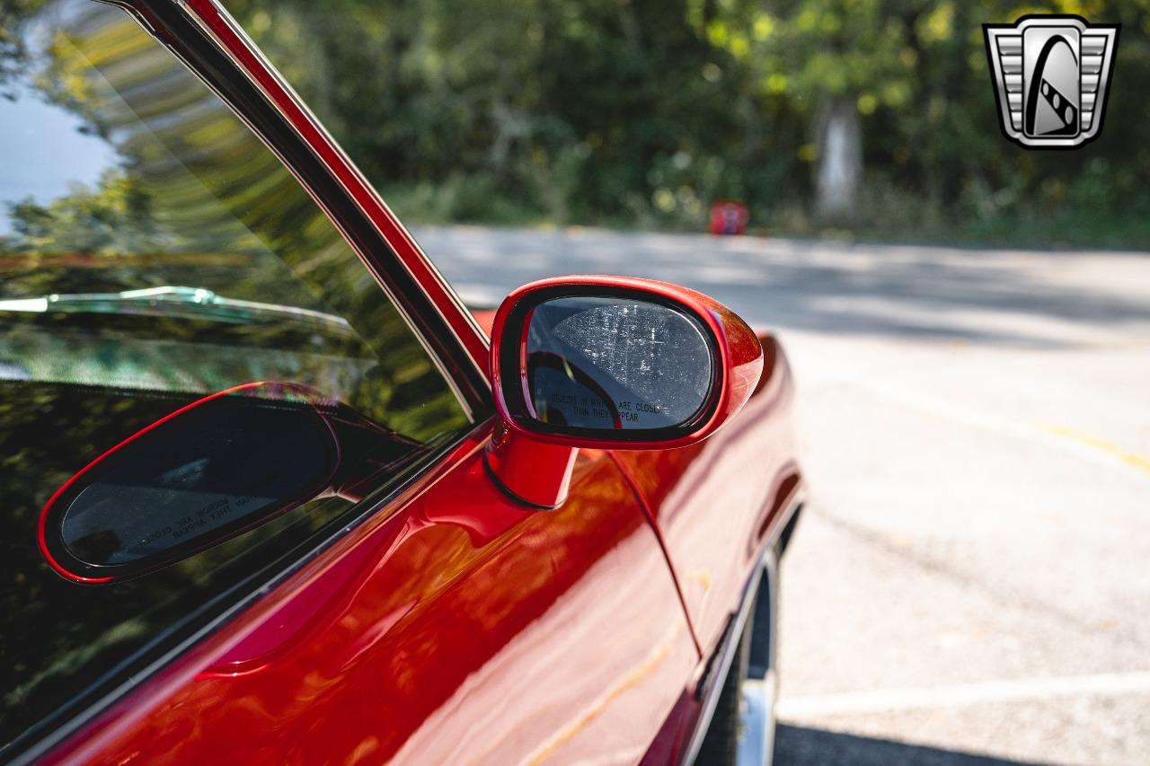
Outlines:
[[[232,598],[253,573],[291,560],[366,495],[412,475],[468,416],[291,174],[129,16],[71,0],[5,3],[0,22],[0,743],[7,743],[122,673],[197,610],[209,602],[216,608],[224,593]],[[174,411],[256,381],[270,384],[246,396],[301,406],[294,392],[307,391],[324,422],[338,421],[344,465],[331,470],[339,481],[302,504],[263,498],[290,510],[123,582],[83,585],[49,568],[36,528],[69,477]],[[229,497],[259,493],[244,488],[245,466],[235,462],[244,450],[220,442],[235,436],[228,427],[236,421],[224,421],[212,431],[222,436],[200,439],[212,443],[210,455],[228,455],[229,470],[216,472],[213,484],[216,510]],[[307,438],[306,429],[276,422],[292,438]],[[206,434],[193,420],[181,423]],[[155,477],[206,475],[199,442],[176,441],[178,450],[156,455],[163,439],[138,439],[151,445],[147,460],[136,467],[121,460],[105,472],[92,492],[124,504],[115,513],[93,511],[103,496],[90,492],[86,505],[63,514],[74,552],[115,564],[153,550],[163,524],[124,514],[164,521],[156,498],[167,490]],[[310,449],[316,460],[328,459],[327,447]],[[348,455],[365,470],[348,474]],[[251,473],[261,472],[253,462]],[[314,490],[310,478],[263,481],[264,493],[269,485]],[[97,523],[106,516],[122,536],[140,539],[109,545],[109,530]]]

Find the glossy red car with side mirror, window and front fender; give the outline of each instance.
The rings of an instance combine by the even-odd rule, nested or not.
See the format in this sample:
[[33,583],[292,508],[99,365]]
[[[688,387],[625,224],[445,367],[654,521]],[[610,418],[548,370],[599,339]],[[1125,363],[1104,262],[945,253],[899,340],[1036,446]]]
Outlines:
[[473,315],[210,0],[0,22],[0,760],[769,759],[770,336]]

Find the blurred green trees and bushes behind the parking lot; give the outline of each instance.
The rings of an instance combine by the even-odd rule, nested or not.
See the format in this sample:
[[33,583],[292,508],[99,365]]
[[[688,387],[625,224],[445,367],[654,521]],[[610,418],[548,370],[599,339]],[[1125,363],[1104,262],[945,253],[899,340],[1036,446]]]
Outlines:
[[[1150,0],[225,5],[408,221],[1150,246]],[[999,129],[982,24],[1027,13],[1122,24],[1078,151]]]

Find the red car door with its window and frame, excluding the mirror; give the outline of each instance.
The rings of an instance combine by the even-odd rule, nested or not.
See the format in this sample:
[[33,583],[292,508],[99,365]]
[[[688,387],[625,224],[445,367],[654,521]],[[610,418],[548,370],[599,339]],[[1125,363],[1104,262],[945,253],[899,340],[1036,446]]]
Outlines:
[[[491,482],[474,324],[193,6],[59,0],[14,26],[0,752],[641,759],[699,656],[636,496],[599,451],[557,511]],[[258,381],[351,422],[365,473],[133,580],[52,572],[34,528],[69,475]]]

